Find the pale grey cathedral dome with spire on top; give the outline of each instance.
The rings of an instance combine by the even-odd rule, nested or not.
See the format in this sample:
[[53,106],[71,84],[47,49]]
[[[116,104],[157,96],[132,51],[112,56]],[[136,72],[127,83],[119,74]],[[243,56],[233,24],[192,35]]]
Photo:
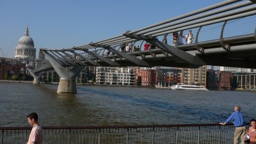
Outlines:
[[28,31],[28,27],[26,29],[26,32],[25,32],[25,35],[22,36],[20,39],[19,39],[19,42],[18,42],[18,45],[17,45],[17,48],[34,48],[35,45],[34,45],[34,41],[33,39],[29,36],[29,31]]

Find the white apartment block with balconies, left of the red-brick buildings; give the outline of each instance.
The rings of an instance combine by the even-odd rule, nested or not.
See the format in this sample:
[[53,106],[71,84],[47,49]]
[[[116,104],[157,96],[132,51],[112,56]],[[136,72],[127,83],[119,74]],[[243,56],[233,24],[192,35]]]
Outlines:
[[97,67],[96,82],[99,84],[134,85],[133,67]]

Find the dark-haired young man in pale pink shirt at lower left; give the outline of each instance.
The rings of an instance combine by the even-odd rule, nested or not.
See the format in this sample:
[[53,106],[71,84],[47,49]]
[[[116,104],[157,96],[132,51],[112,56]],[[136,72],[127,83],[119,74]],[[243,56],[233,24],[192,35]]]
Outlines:
[[38,124],[38,115],[36,113],[30,113],[28,116],[28,123],[33,126],[28,143],[27,144],[42,144],[43,143],[43,131],[42,127]]

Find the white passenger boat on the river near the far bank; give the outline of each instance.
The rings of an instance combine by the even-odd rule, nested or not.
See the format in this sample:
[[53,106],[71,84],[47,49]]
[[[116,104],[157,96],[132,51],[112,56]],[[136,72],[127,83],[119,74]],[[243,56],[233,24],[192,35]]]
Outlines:
[[170,90],[203,90],[203,91],[209,91],[207,88],[204,88],[204,86],[196,86],[196,85],[187,85],[178,83],[176,85],[170,86]]

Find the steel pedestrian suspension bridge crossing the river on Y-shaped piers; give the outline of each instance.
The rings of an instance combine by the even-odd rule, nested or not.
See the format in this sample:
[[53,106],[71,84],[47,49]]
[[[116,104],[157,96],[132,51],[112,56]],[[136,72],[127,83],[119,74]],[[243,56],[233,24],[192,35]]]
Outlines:
[[[42,48],[38,64],[30,72],[38,83],[42,72],[54,68],[61,78],[58,92],[76,93],[74,78],[85,66],[256,68],[255,14],[253,0],[223,1],[99,42],[64,49]],[[186,44],[189,31],[193,42]],[[173,44],[175,32],[177,43]],[[178,43],[180,40],[183,44]],[[148,50],[144,49],[146,42],[150,44]],[[124,51],[125,44],[131,49]]]

